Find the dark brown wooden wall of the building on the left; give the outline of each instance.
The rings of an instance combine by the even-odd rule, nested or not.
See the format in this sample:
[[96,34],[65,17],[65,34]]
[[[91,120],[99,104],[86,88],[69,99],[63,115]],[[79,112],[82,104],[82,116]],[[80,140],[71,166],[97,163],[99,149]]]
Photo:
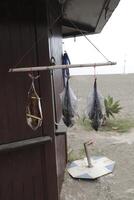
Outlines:
[[[53,6],[52,6],[53,5]],[[2,144],[50,136],[52,141],[14,151],[0,150],[0,200],[58,200],[66,164],[66,134],[56,136],[61,118],[60,70],[40,72],[36,82],[42,99],[43,125],[32,131],[25,109],[30,79],[27,73],[8,73],[9,67],[61,63],[62,42],[57,1],[1,1],[0,6],[0,149]],[[52,27],[50,29],[50,27]],[[54,89],[54,93],[53,93]],[[62,144],[59,147],[59,144]]]

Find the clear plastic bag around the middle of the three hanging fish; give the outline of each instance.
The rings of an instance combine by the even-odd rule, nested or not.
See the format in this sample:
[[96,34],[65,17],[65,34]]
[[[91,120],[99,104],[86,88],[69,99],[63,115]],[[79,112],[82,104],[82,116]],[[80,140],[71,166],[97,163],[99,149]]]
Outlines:
[[77,98],[69,86],[69,79],[67,79],[65,88],[60,97],[62,102],[63,122],[67,127],[72,127],[74,125],[74,116],[77,108]]

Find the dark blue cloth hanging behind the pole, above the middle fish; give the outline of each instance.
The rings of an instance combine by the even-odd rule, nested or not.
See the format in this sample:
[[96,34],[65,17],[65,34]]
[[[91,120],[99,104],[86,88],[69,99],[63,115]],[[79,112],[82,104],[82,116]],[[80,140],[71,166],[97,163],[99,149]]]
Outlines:
[[[65,52],[62,56],[62,64],[63,65],[70,65],[71,64],[67,52]],[[64,86],[65,86],[66,80],[70,77],[69,68],[62,69],[62,74],[63,74],[63,81],[64,81]]]

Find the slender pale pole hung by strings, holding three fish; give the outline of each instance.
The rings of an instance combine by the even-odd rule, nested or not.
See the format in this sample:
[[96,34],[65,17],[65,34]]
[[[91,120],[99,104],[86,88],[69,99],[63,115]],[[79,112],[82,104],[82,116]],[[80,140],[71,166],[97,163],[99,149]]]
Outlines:
[[105,63],[90,63],[90,64],[73,64],[73,65],[51,65],[51,66],[37,66],[37,67],[20,67],[20,68],[10,68],[9,72],[30,72],[30,71],[44,71],[44,70],[55,70],[55,69],[65,69],[65,68],[83,68],[83,67],[101,67],[116,65],[116,62],[105,62]]

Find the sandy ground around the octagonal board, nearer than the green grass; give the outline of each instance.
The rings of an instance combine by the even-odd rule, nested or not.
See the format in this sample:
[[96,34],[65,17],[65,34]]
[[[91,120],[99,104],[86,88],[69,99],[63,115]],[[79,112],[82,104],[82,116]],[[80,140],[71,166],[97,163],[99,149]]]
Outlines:
[[71,178],[65,173],[61,200],[133,200],[134,199],[134,130],[116,133],[93,133],[80,129],[68,133],[68,146],[79,152],[82,144],[95,137],[92,155],[105,155],[116,161],[114,172],[94,181]]

